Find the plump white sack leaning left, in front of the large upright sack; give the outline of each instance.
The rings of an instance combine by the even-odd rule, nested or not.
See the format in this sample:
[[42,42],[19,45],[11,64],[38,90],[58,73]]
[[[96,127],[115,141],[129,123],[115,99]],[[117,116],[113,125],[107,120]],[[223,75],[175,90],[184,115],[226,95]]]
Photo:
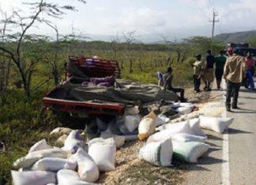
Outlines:
[[78,149],[77,153],[73,154],[73,156],[70,158],[77,161],[78,175],[82,180],[88,183],[94,183],[97,179],[99,179],[99,168],[93,161],[92,157],[90,157],[85,150],[82,150],[81,148]]

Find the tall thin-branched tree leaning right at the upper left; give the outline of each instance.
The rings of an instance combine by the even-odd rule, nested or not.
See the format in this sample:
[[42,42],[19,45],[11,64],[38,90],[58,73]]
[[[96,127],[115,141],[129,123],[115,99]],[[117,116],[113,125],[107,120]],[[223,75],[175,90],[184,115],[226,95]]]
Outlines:
[[[84,0],[77,1],[85,3]],[[66,10],[76,11],[76,9],[74,6],[62,6],[48,2],[47,0],[26,2],[24,5],[29,6],[32,12],[30,13],[30,16],[21,15],[21,13],[16,12],[12,19],[7,23],[7,25],[12,27],[18,26],[20,31],[4,35],[6,42],[0,45],[0,55],[8,57],[14,65],[16,65],[21,76],[24,92],[26,96],[29,97],[33,68],[35,68],[36,64],[41,61],[41,57],[36,58],[36,60],[28,60],[26,56],[25,46],[28,46],[28,43],[36,42],[40,39],[40,37],[35,35],[28,35],[28,30],[32,28],[36,22],[49,23],[50,21],[47,19],[50,17],[61,19],[66,13]]]

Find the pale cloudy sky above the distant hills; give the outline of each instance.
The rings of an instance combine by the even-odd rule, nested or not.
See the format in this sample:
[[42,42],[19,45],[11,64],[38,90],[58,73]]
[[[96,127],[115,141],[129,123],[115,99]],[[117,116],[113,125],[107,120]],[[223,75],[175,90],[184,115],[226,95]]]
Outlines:
[[[11,13],[19,9],[29,10],[21,2],[33,0],[0,0],[3,11]],[[210,36],[215,9],[220,22],[215,34],[256,30],[256,0],[46,0],[77,7],[62,20],[52,20],[62,34],[72,31],[88,35],[92,39],[111,39],[114,35],[135,31],[141,42],[183,39],[194,35]],[[1,25],[0,25],[1,26]],[[52,35],[53,31],[43,24],[36,24],[31,31]]]

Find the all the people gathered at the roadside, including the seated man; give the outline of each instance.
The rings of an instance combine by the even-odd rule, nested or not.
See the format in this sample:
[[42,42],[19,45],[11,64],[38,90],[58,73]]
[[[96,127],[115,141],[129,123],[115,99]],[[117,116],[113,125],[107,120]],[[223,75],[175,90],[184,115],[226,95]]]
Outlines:
[[[247,79],[250,88],[254,89],[254,68],[255,61],[251,54],[243,57],[239,54],[239,50],[230,48],[227,52],[220,50],[220,54],[213,56],[211,50],[207,50],[205,61],[202,61],[201,54],[195,56],[196,61],[191,64],[193,67],[194,92],[200,92],[201,80],[205,83],[204,90],[211,91],[211,83],[213,83],[214,75],[216,78],[216,87],[220,90],[222,78],[227,83],[226,108],[228,111],[239,109],[237,106],[239,89],[243,80]],[[214,68],[215,66],[215,68]],[[164,90],[179,93],[180,100],[186,101],[184,98],[184,89],[175,88],[172,86],[172,68],[169,67],[164,75],[158,73],[159,85],[164,87]],[[231,104],[231,99],[232,104]]]

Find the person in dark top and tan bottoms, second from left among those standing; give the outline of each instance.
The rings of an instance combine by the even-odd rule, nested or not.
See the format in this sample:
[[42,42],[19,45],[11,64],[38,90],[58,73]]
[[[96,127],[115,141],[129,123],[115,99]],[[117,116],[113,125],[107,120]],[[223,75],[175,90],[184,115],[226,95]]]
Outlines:
[[215,58],[212,55],[212,51],[211,50],[207,50],[206,51],[206,61],[205,61],[205,72],[203,74],[203,80],[205,82],[205,91],[212,91],[211,89],[211,83],[214,80],[214,76],[213,76],[213,65],[214,65],[214,60]]

